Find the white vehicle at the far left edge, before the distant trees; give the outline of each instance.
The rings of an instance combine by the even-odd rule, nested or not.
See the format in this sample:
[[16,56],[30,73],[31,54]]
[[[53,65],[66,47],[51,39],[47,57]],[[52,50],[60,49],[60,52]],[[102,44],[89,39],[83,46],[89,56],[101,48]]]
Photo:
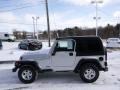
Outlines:
[[14,42],[16,40],[16,37],[9,33],[0,32],[0,39],[3,41]]

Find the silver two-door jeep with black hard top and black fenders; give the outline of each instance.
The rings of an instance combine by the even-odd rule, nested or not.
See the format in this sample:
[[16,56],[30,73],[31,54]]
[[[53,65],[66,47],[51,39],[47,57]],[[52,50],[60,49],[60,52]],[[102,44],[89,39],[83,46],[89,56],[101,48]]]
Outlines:
[[23,83],[35,81],[38,73],[74,72],[87,83],[95,82],[99,71],[108,71],[107,51],[99,37],[57,38],[50,49],[23,54],[13,72]]

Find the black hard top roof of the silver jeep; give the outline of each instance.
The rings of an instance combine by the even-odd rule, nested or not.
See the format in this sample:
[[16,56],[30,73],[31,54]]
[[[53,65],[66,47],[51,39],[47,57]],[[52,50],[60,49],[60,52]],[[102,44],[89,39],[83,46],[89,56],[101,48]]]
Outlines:
[[57,38],[57,40],[73,39],[76,41],[77,56],[104,55],[104,46],[97,36],[74,36]]

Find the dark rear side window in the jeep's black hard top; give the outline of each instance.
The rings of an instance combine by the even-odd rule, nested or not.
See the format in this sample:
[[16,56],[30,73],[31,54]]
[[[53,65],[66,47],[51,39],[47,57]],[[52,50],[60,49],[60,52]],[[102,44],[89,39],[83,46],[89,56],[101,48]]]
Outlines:
[[82,38],[77,42],[77,55],[87,56],[103,54],[103,45],[99,38]]

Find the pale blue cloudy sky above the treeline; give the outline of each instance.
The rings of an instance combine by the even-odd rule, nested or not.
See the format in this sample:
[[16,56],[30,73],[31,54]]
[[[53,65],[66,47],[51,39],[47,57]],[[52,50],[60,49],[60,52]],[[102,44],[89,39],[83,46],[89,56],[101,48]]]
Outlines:
[[[48,0],[51,29],[95,27],[91,0]],[[98,10],[99,26],[120,22],[120,0],[103,0]],[[46,30],[44,0],[0,0],[0,32],[33,31],[32,16],[39,16],[39,30]]]

